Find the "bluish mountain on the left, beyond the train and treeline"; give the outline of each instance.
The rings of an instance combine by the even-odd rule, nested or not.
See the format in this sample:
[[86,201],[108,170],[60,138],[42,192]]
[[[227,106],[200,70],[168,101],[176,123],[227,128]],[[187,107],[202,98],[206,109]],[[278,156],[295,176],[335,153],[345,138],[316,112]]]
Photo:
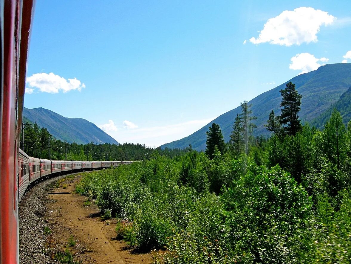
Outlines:
[[55,138],[69,143],[87,144],[93,141],[95,144],[119,144],[92,122],[82,118],[62,117],[41,107],[33,109],[24,107],[23,117],[24,120],[36,122],[40,127],[46,127]]

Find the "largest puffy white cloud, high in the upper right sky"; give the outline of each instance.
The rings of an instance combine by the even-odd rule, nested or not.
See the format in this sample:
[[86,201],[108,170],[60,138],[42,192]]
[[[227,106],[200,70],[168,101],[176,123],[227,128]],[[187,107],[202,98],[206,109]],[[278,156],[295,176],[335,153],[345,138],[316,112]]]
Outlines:
[[283,11],[277,17],[270,18],[264,24],[258,38],[250,38],[253,44],[269,42],[291,46],[302,43],[317,42],[320,26],[330,25],[335,17],[328,12],[312,7],[299,7],[294,11]]

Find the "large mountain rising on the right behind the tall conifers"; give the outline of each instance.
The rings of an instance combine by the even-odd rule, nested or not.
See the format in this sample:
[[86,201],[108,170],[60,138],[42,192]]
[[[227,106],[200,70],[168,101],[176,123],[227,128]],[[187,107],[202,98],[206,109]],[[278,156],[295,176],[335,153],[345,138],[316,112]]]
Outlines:
[[[289,81],[296,85],[298,93],[302,95],[299,112],[302,122],[311,121],[326,111],[351,86],[351,63],[327,64],[309,73],[300,74]],[[264,124],[267,123],[272,110],[277,115],[280,114],[279,105],[282,97],[279,90],[285,89],[287,82],[258,95],[249,102],[252,104],[252,114],[257,117],[257,120],[254,120],[254,124],[257,125],[254,131],[255,136],[268,134]],[[219,124],[227,142],[233,130],[234,119],[239,113],[241,113],[240,106],[220,115],[190,136],[164,144],[161,148],[184,148],[191,144],[195,150],[204,150],[206,149],[206,131],[213,122]]]

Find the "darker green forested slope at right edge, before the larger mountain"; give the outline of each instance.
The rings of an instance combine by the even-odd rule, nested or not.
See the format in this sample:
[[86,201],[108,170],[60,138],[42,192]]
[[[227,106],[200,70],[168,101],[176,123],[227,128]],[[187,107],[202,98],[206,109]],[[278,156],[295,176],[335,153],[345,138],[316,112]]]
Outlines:
[[343,117],[344,124],[351,120],[351,87],[340,96],[340,99],[333,103],[319,117],[311,121],[311,125],[317,128],[323,128],[326,121],[330,119],[333,109],[336,108]]

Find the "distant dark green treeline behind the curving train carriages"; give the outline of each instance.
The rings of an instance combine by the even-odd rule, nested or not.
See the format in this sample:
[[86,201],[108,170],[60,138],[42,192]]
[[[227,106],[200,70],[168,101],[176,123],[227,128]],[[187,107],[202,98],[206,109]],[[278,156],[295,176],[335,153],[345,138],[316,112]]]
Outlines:
[[[20,147],[23,138],[21,134]],[[145,144],[69,144],[55,139],[47,128],[40,128],[37,123],[24,124],[24,151],[27,155],[37,158],[77,160],[77,161],[139,161],[149,159],[157,151],[161,156],[175,157],[187,152],[188,149],[153,149]]]

